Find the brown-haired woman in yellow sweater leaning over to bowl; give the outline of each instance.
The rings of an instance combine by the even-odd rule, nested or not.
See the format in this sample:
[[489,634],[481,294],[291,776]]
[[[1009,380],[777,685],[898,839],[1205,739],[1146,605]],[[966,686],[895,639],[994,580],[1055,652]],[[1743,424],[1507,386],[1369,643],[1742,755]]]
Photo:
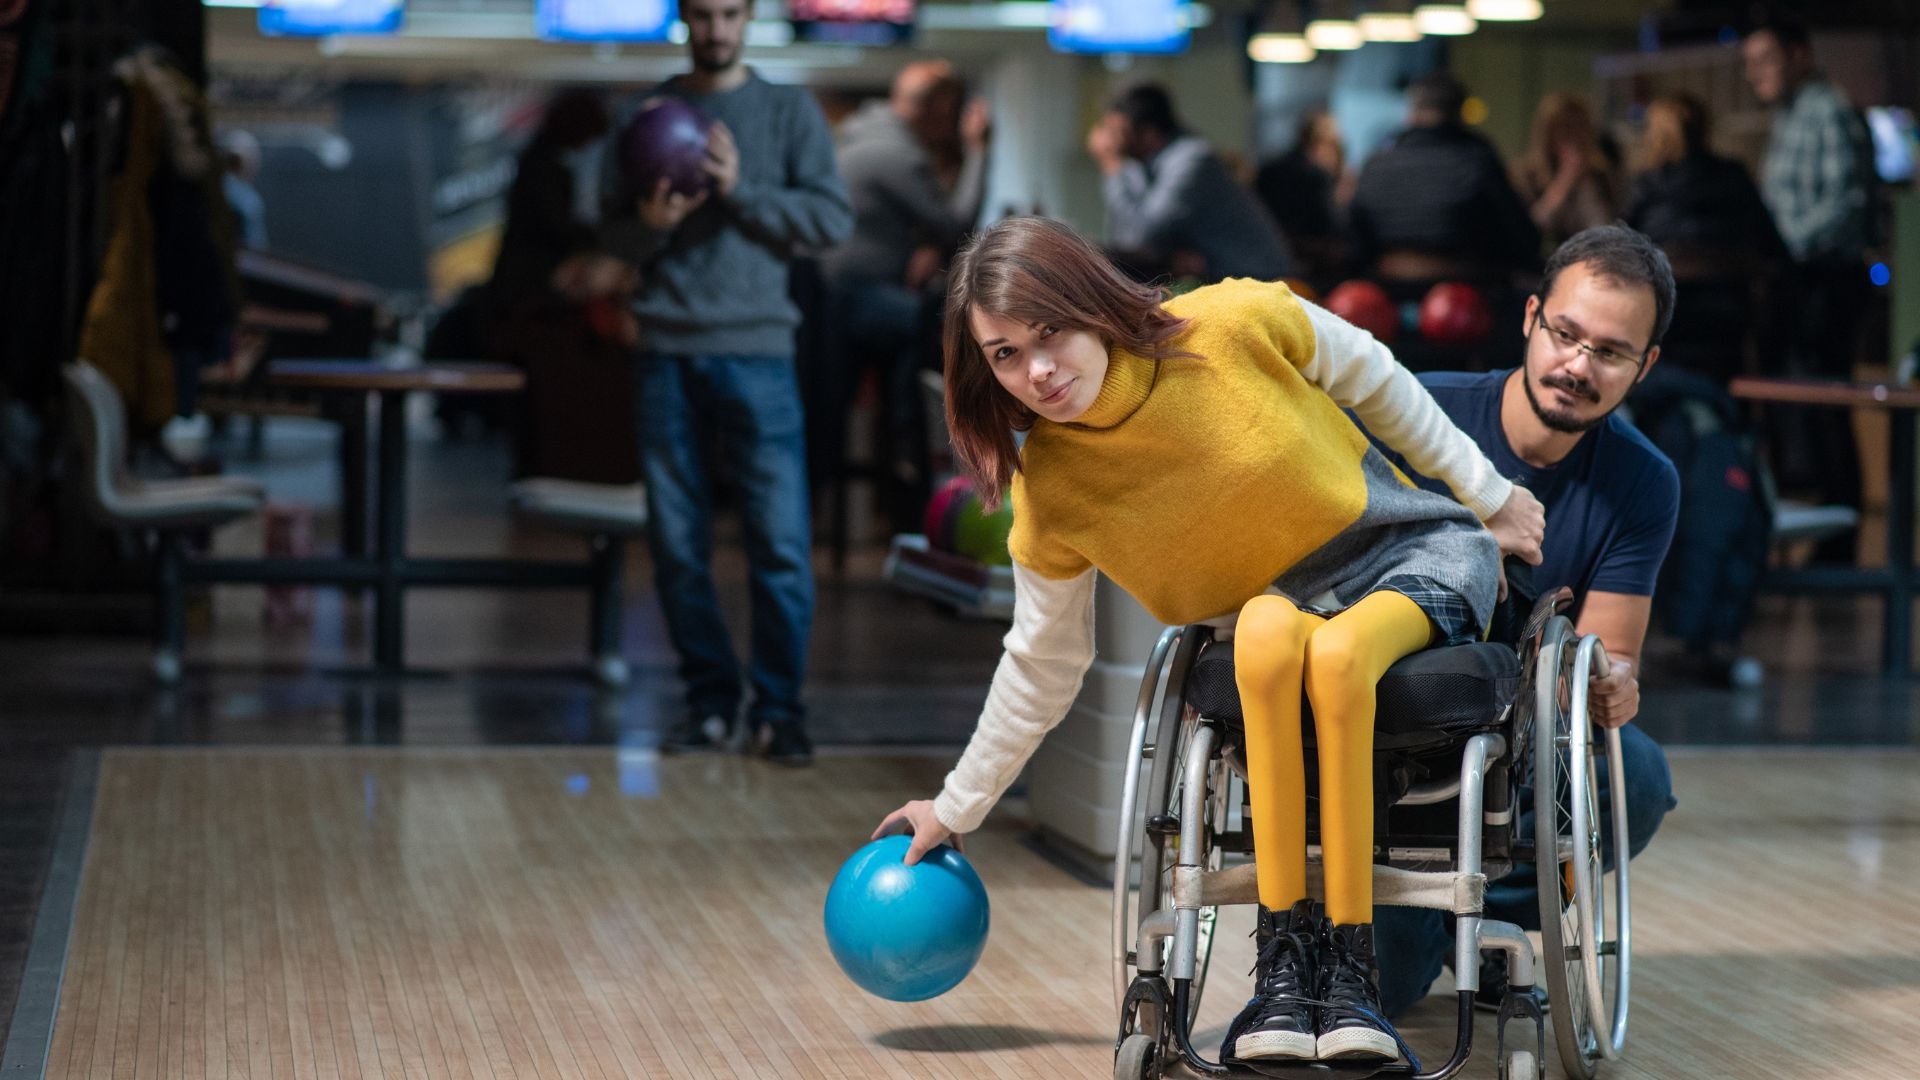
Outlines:
[[[1223,1057],[1396,1059],[1371,930],[1375,682],[1484,632],[1501,552],[1540,559],[1540,503],[1384,346],[1284,284],[1167,300],[1044,219],[1002,221],[954,259],[945,367],[958,457],[983,498],[1012,486],[1014,628],[941,794],[876,836],[912,828],[912,863],[981,822],[1092,661],[1094,571],[1162,623],[1236,617],[1261,911]],[[1342,407],[1457,502],[1411,486]],[[1304,703],[1325,913],[1308,897]]]

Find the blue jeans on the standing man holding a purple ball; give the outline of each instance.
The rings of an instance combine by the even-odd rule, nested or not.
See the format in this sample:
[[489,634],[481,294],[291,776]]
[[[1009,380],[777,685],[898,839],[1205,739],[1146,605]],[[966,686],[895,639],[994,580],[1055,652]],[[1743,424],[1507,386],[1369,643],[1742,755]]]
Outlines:
[[801,680],[814,623],[806,434],[791,357],[641,354],[639,461],[647,542],[666,632],[695,717],[739,709],[733,640],[712,577],[712,480],[718,452],[739,484],[753,594],[747,680],[755,726],[801,723]]

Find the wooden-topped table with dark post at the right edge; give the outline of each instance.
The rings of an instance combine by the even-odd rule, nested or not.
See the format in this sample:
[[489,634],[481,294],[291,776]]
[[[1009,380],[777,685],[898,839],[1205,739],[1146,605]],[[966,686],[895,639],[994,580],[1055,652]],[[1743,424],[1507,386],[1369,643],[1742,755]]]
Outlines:
[[1914,580],[1914,411],[1920,386],[1891,382],[1837,382],[1830,379],[1734,379],[1736,398],[1837,409],[1885,409],[1891,430],[1887,459],[1887,565],[1799,567],[1768,571],[1766,586],[1797,592],[1878,592],[1885,598],[1882,671],[1895,678],[1912,673]]

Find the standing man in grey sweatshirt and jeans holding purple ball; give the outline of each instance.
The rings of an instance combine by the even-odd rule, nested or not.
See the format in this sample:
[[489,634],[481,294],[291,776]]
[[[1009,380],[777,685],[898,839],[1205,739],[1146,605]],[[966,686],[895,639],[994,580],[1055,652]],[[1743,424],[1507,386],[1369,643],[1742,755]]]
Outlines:
[[[749,730],[768,759],[806,765],[812,525],[793,375],[801,313],[787,298],[787,263],[801,248],[841,242],[852,208],[820,106],[743,63],[751,0],[682,0],[680,15],[693,69],[655,96],[710,121],[695,190],[659,171],[660,156],[684,152],[684,140],[636,144],[626,136],[636,127],[609,154],[603,227],[607,250],[641,273],[634,315],[647,540],[687,694],[687,715],[664,749],[730,744],[747,698]],[[741,488],[753,590],[745,680],[710,567],[710,452]]]

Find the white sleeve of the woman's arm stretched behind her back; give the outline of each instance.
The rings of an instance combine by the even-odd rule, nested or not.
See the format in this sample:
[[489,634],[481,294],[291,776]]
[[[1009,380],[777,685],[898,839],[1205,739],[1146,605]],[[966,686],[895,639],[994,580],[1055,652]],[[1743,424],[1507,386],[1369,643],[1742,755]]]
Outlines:
[[1475,517],[1494,517],[1513,482],[1453,427],[1432,394],[1367,331],[1317,304],[1300,306],[1313,325],[1313,359],[1300,367],[1340,405],[1354,409],[1367,430],[1392,446],[1423,477],[1444,482]]

